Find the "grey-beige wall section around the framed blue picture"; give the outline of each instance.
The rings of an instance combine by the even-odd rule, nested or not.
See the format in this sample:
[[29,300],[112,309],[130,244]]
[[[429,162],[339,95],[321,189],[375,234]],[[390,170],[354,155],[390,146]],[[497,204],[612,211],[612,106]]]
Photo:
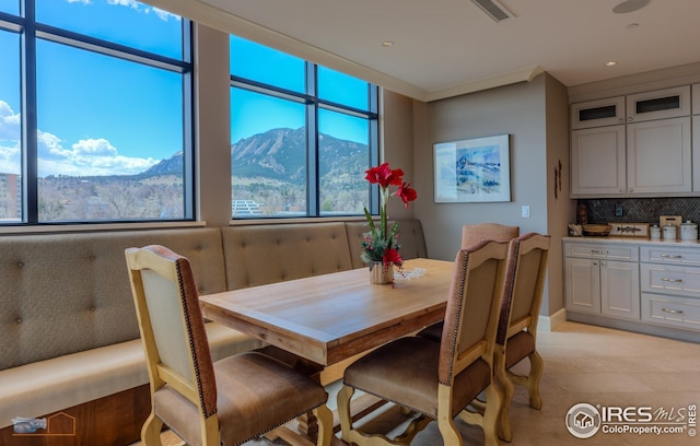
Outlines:
[[[433,201],[433,144],[493,134],[511,134],[511,201],[435,203]],[[541,314],[563,307],[561,236],[573,215],[569,199],[569,138],[567,90],[548,74],[529,83],[493,89],[438,101],[413,103],[416,218],[425,231],[428,255],[453,260],[462,226],[498,222],[521,227],[521,233],[552,235],[550,279]],[[555,198],[555,165],[562,164],[561,192]],[[522,207],[530,218],[523,219]]]

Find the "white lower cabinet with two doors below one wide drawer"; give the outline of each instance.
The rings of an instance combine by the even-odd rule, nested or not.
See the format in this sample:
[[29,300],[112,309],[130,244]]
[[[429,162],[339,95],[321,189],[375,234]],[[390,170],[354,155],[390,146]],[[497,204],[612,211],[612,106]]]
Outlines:
[[638,320],[638,253],[631,245],[565,243],[567,309]]

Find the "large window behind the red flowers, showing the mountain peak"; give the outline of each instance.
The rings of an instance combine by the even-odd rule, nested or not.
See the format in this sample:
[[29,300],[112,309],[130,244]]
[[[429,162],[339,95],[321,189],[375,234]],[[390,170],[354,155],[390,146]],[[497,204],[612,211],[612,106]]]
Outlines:
[[361,215],[377,87],[231,36],[232,215]]

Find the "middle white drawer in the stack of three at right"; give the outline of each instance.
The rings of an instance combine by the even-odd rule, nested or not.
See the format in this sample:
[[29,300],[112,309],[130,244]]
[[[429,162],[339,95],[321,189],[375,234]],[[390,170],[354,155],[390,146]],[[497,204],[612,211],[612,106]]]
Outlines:
[[700,268],[640,263],[641,290],[700,297]]

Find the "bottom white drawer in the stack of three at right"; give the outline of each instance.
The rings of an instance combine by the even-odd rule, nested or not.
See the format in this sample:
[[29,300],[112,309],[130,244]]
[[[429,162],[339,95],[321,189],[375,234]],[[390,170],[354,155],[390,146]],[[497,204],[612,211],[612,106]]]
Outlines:
[[700,301],[642,293],[642,320],[700,330]]

